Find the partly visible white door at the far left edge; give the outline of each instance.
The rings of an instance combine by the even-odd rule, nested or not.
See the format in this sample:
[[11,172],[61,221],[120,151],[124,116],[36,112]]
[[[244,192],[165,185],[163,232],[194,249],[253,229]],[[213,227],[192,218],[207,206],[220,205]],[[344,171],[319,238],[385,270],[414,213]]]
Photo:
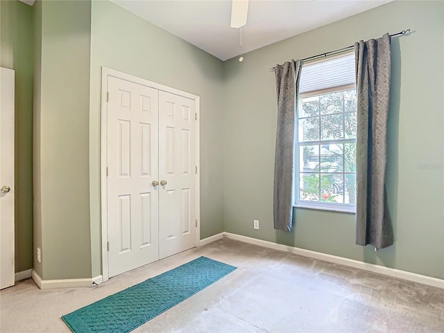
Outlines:
[[14,285],[14,71],[0,67],[0,289]]

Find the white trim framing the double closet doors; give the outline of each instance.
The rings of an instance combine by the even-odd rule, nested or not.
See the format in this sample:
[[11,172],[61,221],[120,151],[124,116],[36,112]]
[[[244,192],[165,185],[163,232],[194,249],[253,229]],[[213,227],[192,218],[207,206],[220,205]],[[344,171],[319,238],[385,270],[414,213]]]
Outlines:
[[128,80],[139,85],[145,85],[147,87],[152,87],[158,89],[162,92],[168,92],[170,94],[176,94],[178,96],[191,99],[196,103],[196,246],[200,244],[200,97],[194,94],[189,94],[188,92],[182,92],[181,90],[167,87],[166,85],[160,85],[144,78],[138,78],[130,74],[123,73],[121,71],[116,71],[107,67],[101,67],[101,243],[102,243],[102,281],[108,281],[109,271],[108,271],[108,207],[106,205],[107,200],[107,177],[106,177],[106,167],[107,167],[107,156],[106,156],[106,145],[107,145],[107,124],[108,124],[108,103],[107,103],[107,91],[108,91],[108,76],[115,78],[120,78],[122,80]]

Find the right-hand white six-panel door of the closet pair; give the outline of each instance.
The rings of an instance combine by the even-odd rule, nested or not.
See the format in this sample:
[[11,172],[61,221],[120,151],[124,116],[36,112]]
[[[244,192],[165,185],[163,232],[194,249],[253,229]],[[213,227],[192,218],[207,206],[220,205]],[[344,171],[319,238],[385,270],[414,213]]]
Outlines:
[[160,259],[196,246],[195,112],[196,101],[159,92]]

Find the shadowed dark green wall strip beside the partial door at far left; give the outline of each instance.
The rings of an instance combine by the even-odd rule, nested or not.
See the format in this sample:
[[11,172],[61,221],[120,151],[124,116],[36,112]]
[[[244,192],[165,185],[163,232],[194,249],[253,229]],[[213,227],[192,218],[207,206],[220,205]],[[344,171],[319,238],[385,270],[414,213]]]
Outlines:
[[33,11],[0,1],[0,66],[15,70],[15,271],[33,268]]

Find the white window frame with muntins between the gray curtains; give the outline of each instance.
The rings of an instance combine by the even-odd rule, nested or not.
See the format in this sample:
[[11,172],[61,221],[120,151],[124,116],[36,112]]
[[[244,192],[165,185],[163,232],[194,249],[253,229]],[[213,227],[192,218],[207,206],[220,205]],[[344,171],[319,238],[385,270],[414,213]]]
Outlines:
[[[294,171],[294,185],[295,185],[295,191],[293,191],[293,206],[298,208],[307,208],[311,210],[325,210],[330,212],[345,212],[345,213],[356,213],[356,204],[350,205],[345,203],[326,203],[322,201],[309,201],[309,200],[300,200],[300,147],[301,146],[309,146],[314,144],[348,144],[348,143],[356,143],[355,139],[330,139],[330,140],[321,140],[321,137],[318,141],[307,141],[307,142],[299,142],[299,114],[298,114],[298,108],[299,108],[299,101],[300,99],[305,99],[307,97],[311,96],[318,96],[322,94],[330,94],[333,92],[343,92],[350,89],[357,89],[357,86],[355,83],[351,83],[348,85],[340,85],[336,87],[330,87],[327,89],[319,89],[314,90],[311,92],[304,92],[302,94],[299,94],[297,96],[296,100],[296,123],[295,123],[295,133],[294,133],[294,141],[295,141],[295,151],[294,151],[294,165],[295,165],[295,171]],[[352,112],[341,112],[341,113],[335,113],[335,114],[345,114],[345,113],[352,113]],[[330,114],[329,114],[330,115]],[[319,115],[321,117],[321,114]],[[303,119],[303,118],[302,118]],[[319,123],[319,126],[321,127],[321,121]],[[345,130],[345,128],[344,128]],[[343,165],[344,165],[344,156],[343,158]],[[316,173],[314,173],[316,174]],[[318,174],[321,176],[321,171],[318,172]],[[332,173],[334,174],[334,173]],[[346,174],[352,174],[352,173],[345,173],[344,167],[341,172],[343,182],[345,182],[345,175]],[[356,172],[355,172],[356,175]],[[321,182],[321,179],[320,179]],[[319,190],[321,191],[321,183],[319,184]],[[345,189],[344,189],[345,191]]]

